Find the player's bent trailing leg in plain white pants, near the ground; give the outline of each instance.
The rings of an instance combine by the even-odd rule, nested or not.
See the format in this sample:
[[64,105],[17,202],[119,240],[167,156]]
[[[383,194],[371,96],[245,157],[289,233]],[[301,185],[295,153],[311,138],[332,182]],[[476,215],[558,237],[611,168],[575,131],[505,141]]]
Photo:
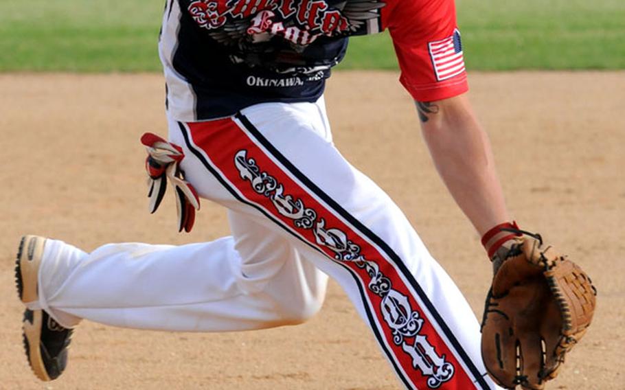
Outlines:
[[106,244],[84,253],[46,240],[31,308],[65,328],[89,319],[188,332],[271,328],[315,314],[326,275],[253,217],[229,218],[233,236],[182,246]]

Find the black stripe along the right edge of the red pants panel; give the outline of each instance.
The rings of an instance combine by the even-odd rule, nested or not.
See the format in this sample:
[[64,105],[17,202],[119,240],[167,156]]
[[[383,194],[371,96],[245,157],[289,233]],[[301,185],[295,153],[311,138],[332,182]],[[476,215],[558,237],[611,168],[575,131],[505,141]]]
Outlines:
[[444,320],[442,319],[442,316],[436,310],[434,304],[427,297],[424,290],[421,288],[421,286],[419,286],[416,279],[408,271],[408,269],[406,268],[406,265],[404,264],[404,262],[402,262],[399,255],[397,255],[397,253],[395,253],[395,251],[393,251],[393,249],[391,249],[391,247],[386,242],[384,242],[380,237],[378,237],[373,231],[371,231],[369,228],[363,225],[359,220],[357,220],[354,216],[352,216],[347,210],[343,209],[341,205],[339,205],[332,198],[330,198],[330,196],[328,196],[328,194],[326,194],[325,192],[323,192],[323,190],[317,187],[315,183],[312,183],[312,181],[310,181],[310,179],[308,179],[306,175],[304,175],[300,170],[298,170],[295,167],[295,165],[291,163],[291,161],[288,161],[288,159],[286,159],[286,157],[284,157],[284,155],[280,153],[280,151],[278,151],[269,142],[269,140],[267,140],[260,133],[260,131],[257,128],[255,128],[255,126],[249,121],[249,119],[247,119],[245,115],[243,115],[242,113],[237,113],[236,118],[240,120],[240,122],[245,126],[245,128],[249,131],[249,133],[251,133],[251,135],[253,135],[253,137],[255,137],[255,139],[260,144],[262,144],[262,146],[264,146],[264,148],[266,148],[266,150],[268,150],[273,155],[273,157],[277,159],[277,161],[280,161],[280,163],[282,163],[282,165],[284,165],[284,167],[289,172],[291,172],[291,174],[297,177],[297,179],[301,181],[302,183],[304,183],[304,185],[306,185],[306,187],[308,187],[310,191],[314,192],[317,196],[319,196],[319,198],[321,198],[330,207],[332,207],[332,209],[334,209],[334,211],[336,211],[337,214],[341,215],[343,218],[345,218],[345,220],[348,220],[354,227],[356,227],[356,229],[361,231],[361,233],[363,233],[364,236],[369,238],[372,242],[374,242],[377,246],[380,247],[380,249],[382,249],[387,254],[387,256],[394,262],[394,264],[398,266],[400,271],[403,273],[404,277],[406,277],[409,280],[411,286],[417,292],[417,295],[419,295],[419,298],[421,299],[421,301],[424,303],[424,305],[427,307],[427,309],[431,313],[432,317],[440,326],[441,330],[443,331],[443,333],[445,334],[445,336],[447,337],[451,345],[453,345],[454,349],[459,354],[460,358],[463,360],[466,367],[469,369],[471,374],[473,374],[473,377],[475,378],[475,380],[477,380],[477,382],[479,383],[479,385],[481,385],[483,389],[490,389],[490,387],[488,386],[488,383],[486,383],[486,380],[482,378],[482,374],[479,372],[477,367],[475,367],[475,364],[473,364],[473,361],[469,358],[468,354],[466,353],[462,345],[459,343],[459,341],[456,339],[451,329],[444,322]]

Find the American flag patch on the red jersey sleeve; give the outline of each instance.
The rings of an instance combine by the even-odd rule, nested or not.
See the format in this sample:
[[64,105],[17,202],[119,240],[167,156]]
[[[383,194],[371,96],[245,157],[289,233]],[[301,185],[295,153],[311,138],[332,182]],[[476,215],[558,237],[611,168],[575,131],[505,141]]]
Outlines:
[[452,36],[440,41],[429,42],[427,45],[434,65],[436,80],[447,80],[464,72],[462,42],[458,29],[453,31]]

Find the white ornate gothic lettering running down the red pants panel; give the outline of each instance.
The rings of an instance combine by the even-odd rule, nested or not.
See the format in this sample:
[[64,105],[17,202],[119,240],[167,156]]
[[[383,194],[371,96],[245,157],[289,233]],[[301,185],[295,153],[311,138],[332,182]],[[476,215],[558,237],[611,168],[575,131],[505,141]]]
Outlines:
[[[409,297],[392,288],[391,280],[381,271],[378,264],[367,260],[361,254],[361,247],[348,238],[348,235],[337,228],[326,228],[326,220],[317,218],[317,211],[307,208],[300,198],[284,194],[284,187],[277,180],[261,172],[254,159],[247,158],[247,150],[239,150],[234,157],[234,164],[241,179],[249,181],[253,190],[271,200],[277,212],[291,220],[299,229],[312,230],[315,241],[334,252],[334,259],[351,262],[365,270],[371,278],[367,288],[382,298],[380,311],[384,321],[391,329],[393,343],[411,356],[412,366],[426,376],[427,385],[431,389],[440,387],[453,377],[454,367],[439,356],[427,341],[427,337],[419,334],[424,319],[412,309]],[[407,339],[414,339],[411,343]]]

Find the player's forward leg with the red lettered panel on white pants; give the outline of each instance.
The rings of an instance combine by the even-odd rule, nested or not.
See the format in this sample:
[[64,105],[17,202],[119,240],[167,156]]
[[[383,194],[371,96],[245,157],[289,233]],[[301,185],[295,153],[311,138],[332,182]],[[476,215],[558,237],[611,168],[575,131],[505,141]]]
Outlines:
[[319,117],[315,104],[259,104],[179,124],[194,156],[188,177],[211,172],[236,201],[228,207],[263,214],[337,279],[406,387],[494,387],[468,303],[398,207],[323,135]]

